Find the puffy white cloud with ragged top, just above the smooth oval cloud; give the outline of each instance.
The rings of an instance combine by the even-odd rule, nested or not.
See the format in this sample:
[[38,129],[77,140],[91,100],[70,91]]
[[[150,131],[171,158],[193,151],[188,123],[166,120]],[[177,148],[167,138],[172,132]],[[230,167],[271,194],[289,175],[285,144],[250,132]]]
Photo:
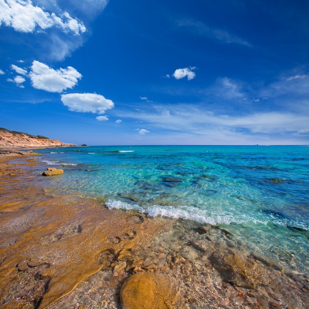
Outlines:
[[65,89],[73,88],[81,74],[73,67],[54,70],[46,64],[34,61],[29,73],[32,85],[36,89],[48,92],[62,92]]

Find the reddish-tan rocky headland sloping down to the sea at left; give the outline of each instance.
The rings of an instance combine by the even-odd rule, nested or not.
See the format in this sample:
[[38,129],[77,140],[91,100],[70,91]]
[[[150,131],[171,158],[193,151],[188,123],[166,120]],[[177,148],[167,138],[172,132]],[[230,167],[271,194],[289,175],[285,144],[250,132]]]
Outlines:
[[45,136],[34,136],[28,133],[10,131],[0,128],[0,151],[33,148],[75,147],[76,144],[63,143]]

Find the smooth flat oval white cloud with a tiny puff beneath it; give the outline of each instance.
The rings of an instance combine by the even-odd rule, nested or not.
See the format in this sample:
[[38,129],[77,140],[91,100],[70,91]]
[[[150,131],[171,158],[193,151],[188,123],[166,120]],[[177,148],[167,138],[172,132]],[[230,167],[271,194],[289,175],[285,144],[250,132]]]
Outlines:
[[[79,113],[104,114],[115,106],[112,100],[96,93],[62,94],[61,101],[70,111]],[[107,120],[103,117],[98,120]]]

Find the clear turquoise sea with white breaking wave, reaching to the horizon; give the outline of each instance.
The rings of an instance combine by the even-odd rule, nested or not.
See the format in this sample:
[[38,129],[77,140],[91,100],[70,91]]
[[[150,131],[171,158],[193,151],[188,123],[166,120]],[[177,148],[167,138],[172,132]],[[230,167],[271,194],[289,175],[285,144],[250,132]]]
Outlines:
[[[224,226],[247,249],[309,272],[309,146],[98,146],[44,149],[57,193]],[[52,189],[50,189],[52,188]]]

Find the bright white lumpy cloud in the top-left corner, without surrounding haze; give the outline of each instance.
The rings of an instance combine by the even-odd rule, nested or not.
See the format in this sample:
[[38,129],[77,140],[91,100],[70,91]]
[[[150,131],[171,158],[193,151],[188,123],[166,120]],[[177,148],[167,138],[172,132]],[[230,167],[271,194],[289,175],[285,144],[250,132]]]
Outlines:
[[47,12],[31,0],[0,0],[0,25],[12,27],[19,32],[33,32],[36,29],[45,30],[56,26],[63,32],[73,32],[75,35],[84,33],[85,26],[77,18],[72,18],[64,12],[60,16]]

